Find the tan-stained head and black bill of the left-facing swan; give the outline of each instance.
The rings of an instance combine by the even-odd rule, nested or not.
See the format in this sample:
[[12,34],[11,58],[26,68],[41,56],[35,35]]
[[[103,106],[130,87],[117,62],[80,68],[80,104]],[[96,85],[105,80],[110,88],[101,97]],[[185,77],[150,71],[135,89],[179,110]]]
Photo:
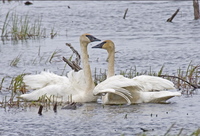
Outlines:
[[115,45],[111,40],[105,40],[105,41],[97,44],[96,46],[93,46],[92,48],[101,48],[101,49],[105,49],[108,52],[110,52],[110,51],[115,50]]

